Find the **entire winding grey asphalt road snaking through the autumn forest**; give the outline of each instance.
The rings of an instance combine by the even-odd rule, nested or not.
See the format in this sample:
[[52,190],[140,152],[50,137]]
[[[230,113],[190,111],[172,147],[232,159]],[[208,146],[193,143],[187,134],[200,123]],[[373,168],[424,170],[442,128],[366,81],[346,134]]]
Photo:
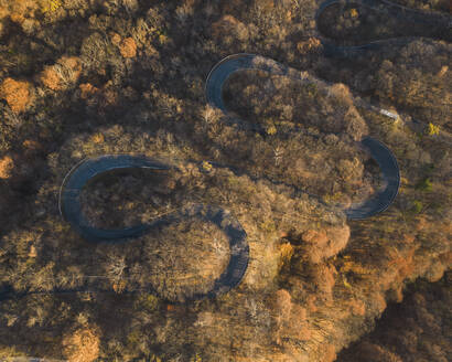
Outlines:
[[[405,20],[408,19],[416,23],[421,22],[428,24],[429,26],[431,26],[431,32],[427,36],[451,41],[452,21],[450,17],[434,12],[424,12],[408,9],[386,0],[351,0],[345,2],[344,0],[327,0],[321,4],[315,14],[316,23],[319,24],[320,18],[330,7],[343,6],[347,3],[358,7],[366,7],[384,13],[385,15],[396,17]],[[322,33],[319,26],[318,30],[323,36],[322,44],[323,53],[325,56],[356,56],[356,52],[379,50],[384,45],[405,45],[413,39],[418,38],[394,38],[378,40],[362,45],[342,46],[331,42],[329,34]],[[217,63],[209,72],[205,84],[205,96],[207,103],[214,107],[219,108],[225,115],[227,115],[228,110],[223,99],[224,84],[232,74],[247,70],[260,70],[271,74],[283,75],[302,83],[329,85],[326,82],[318,79],[306,72],[299,72],[297,70],[279,64],[270,58],[255,54],[233,54]],[[394,115],[386,109],[381,109],[374,105],[367,104],[358,97],[356,97],[355,100],[356,105],[360,107],[367,107],[372,110],[379,111],[390,118],[397,117],[397,115]],[[241,121],[240,119],[234,118],[234,121],[237,121],[241,126],[248,127],[256,131],[261,130],[258,126],[247,126],[247,124]],[[385,187],[383,188],[383,190],[376,192],[362,204],[354,205],[351,209],[345,210],[344,212],[349,220],[366,219],[385,211],[397,196],[400,185],[400,171],[392,152],[384,143],[370,137],[363,138],[360,140],[360,143],[369,151],[370,156],[378,163],[385,180]],[[79,203],[82,190],[89,181],[94,180],[97,177],[101,177],[107,174],[108,172],[122,169],[146,169],[150,172],[158,172],[162,170],[170,170],[171,168],[171,166],[161,163],[147,157],[137,157],[130,155],[108,155],[94,159],[82,160],[67,173],[63,181],[60,190],[60,211],[63,217],[77,233],[79,233],[87,241],[95,243],[122,242],[130,237],[139,237],[146,233],[151,232],[155,227],[168,225],[170,223],[177,222],[179,220],[190,216],[201,217],[202,220],[214,223],[219,228],[222,228],[229,238],[229,264],[226,267],[225,272],[220,275],[220,277],[215,280],[212,290],[205,294],[195,294],[187,301],[200,300],[204,298],[214,298],[219,294],[227,292],[240,283],[246,273],[249,260],[249,246],[247,243],[246,232],[237,222],[237,220],[235,220],[223,209],[213,205],[197,204],[186,209],[185,211],[177,211],[172,214],[165,215],[149,224],[139,224],[121,230],[104,230],[94,227],[84,217],[82,212],[82,205]],[[0,289],[0,300],[9,298],[11,296],[21,297],[29,294],[54,294],[74,291],[99,290],[80,287],[76,289],[54,289],[52,291],[18,292],[14,291],[10,286],[6,286]],[[114,292],[111,290],[101,291]],[[142,289],[131,291],[126,290],[125,292],[141,291]]]

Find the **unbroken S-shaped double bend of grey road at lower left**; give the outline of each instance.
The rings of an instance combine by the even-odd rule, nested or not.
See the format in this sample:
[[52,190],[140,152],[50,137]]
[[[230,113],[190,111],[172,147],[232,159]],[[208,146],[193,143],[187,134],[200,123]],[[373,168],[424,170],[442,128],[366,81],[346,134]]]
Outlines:
[[248,267],[249,246],[247,235],[240,223],[225,210],[205,204],[194,204],[183,211],[166,214],[149,224],[139,224],[121,230],[104,230],[89,225],[84,217],[79,201],[83,188],[94,178],[107,172],[125,169],[170,170],[171,167],[147,157],[130,155],[101,156],[86,159],[73,168],[63,181],[60,191],[60,210],[63,217],[84,238],[92,242],[123,241],[139,237],[152,228],[168,225],[186,217],[198,217],[218,226],[229,239],[230,258],[225,272],[215,280],[212,290],[205,294],[195,294],[187,300],[213,298],[237,286]]

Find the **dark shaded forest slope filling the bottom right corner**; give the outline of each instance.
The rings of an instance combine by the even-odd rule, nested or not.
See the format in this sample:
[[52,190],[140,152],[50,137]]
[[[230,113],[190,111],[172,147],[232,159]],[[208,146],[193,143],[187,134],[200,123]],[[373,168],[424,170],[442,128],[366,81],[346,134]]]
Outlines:
[[336,361],[449,361],[451,302],[450,272],[433,284],[418,280],[401,304],[388,306],[374,331],[343,350]]

